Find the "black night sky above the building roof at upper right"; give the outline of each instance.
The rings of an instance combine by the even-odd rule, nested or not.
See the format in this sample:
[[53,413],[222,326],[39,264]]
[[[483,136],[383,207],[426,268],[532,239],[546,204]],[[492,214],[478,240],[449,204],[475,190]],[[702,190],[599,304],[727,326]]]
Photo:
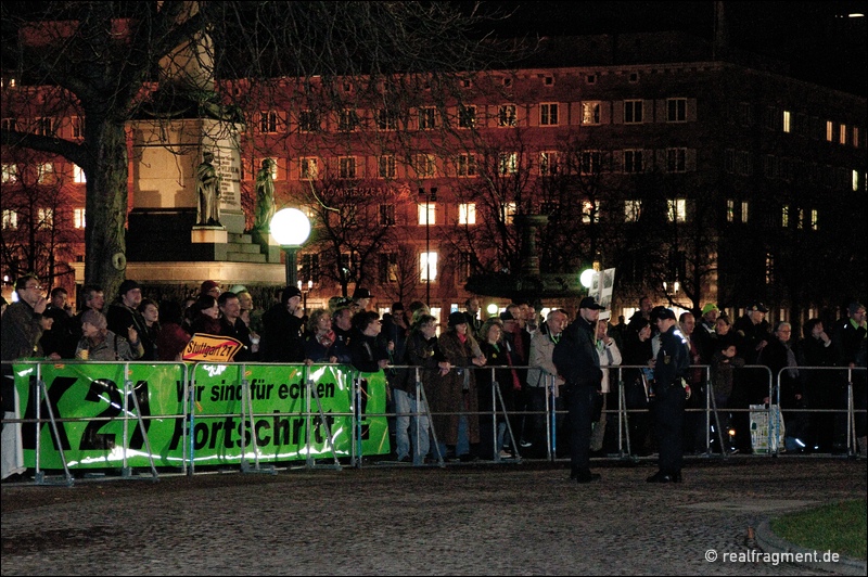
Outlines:
[[[489,2],[513,11],[499,36],[580,36],[685,30],[711,39],[714,2]],[[788,62],[796,78],[868,95],[866,1],[724,2],[729,41],[742,50]]]

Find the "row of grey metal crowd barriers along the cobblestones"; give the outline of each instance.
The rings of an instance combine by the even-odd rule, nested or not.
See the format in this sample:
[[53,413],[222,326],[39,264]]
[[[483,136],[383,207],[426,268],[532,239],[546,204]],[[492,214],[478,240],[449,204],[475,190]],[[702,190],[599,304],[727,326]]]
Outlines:
[[[3,362],[3,364],[12,364],[8,362]],[[264,456],[260,449],[260,445],[258,441],[258,433],[259,433],[259,425],[261,421],[256,421],[257,418],[271,418],[275,419],[275,423],[277,424],[277,419],[283,416],[301,416],[304,420],[304,429],[305,429],[305,440],[304,444],[299,447],[299,450],[296,453],[290,454],[285,461],[301,461],[304,460],[304,469],[316,469],[316,467],[328,467],[328,469],[342,469],[343,464],[339,459],[339,452],[335,450],[334,441],[335,441],[335,433],[332,431],[333,424],[336,422],[339,418],[346,418],[350,421],[350,445],[348,454],[343,454],[343,457],[348,457],[349,465],[360,467],[363,463],[363,448],[362,448],[362,440],[363,440],[363,431],[362,431],[362,421],[370,418],[384,418],[386,420],[395,419],[396,416],[409,416],[410,419],[417,419],[420,416],[427,416],[430,425],[431,425],[431,436],[433,439],[432,443],[432,452],[435,454],[435,463],[429,464],[436,464],[438,466],[445,465],[445,456],[442,453],[441,450],[441,443],[438,443],[437,432],[434,427],[434,420],[432,419],[435,414],[456,414],[456,413],[432,413],[430,410],[430,406],[427,405],[427,397],[425,394],[425,387],[423,385],[423,380],[420,374],[420,369],[418,367],[408,367],[408,366],[391,366],[390,369],[400,370],[400,369],[408,369],[412,371],[414,375],[414,380],[417,383],[416,387],[416,400],[417,407],[424,407],[424,413],[417,411],[417,412],[395,412],[387,409],[378,410],[378,411],[365,411],[363,405],[366,401],[366,396],[369,395],[369,392],[362,390],[361,387],[361,379],[357,371],[354,371],[352,368],[346,366],[321,366],[317,364],[317,367],[333,367],[335,371],[344,372],[349,375],[348,381],[352,383],[352,395],[350,395],[350,406],[346,411],[332,411],[327,410],[323,406],[323,398],[321,398],[321,394],[319,389],[321,388],[321,383],[317,381],[315,376],[315,371],[311,367],[306,364],[275,364],[275,363],[232,363],[226,366],[216,366],[215,363],[196,363],[196,364],[189,364],[184,362],[148,362],[148,363],[138,363],[138,362],[100,362],[100,366],[115,366],[115,370],[119,368],[120,370],[120,381],[122,386],[117,386],[117,384],[111,380],[105,379],[94,379],[90,383],[90,390],[88,395],[90,396],[88,400],[92,400],[94,402],[103,403],[105,406],[105,410],[103,413],[100,413],[95,416],[89,418],[65,418],[62,414],[55,414],[59,399],[62,397],[65,388],[72,386],[72,384],[67,383],[66,381],[63,382],[53,382],[51,384],[51,388],[46,383],[43,376],[46,372],[51,367],[61,367],[61,366],[93,366],[94,361],[23,361],[16,362],[14,364],[25,366],[28,367],[33,374],[30,375],[31,382],[31,395],[35,396],[34,398],[28,399],[28,409],[27,411],[31,414],[25,414],[23,418],[21,415],[21,407],[16,407],[17,412],[14,414],[12,419],[4,419],[4,429],[3,429],[3,438],[4,438],[4,450],[5,450],[5,440],[7,435],[11,434],[8,429],[14,431],[15,427],[21,427],[22,425],[33,424],[33,429],[35,431],[35,482],[37,484],[61,484],[61,485],[72,485],[74,483],[74,477],[71,472],[71,466],[77,466],[82,463],[69,463],[67,462],[67,458],[64,454],[64,440],[63,440],[63,433],[59,425],[63,425],[64,423],[84,423],[87,427],[90,427],[89,431],[97,431],[102,423],[110,423],[110,422],[117,422],[118,420],[122,423],[122,443],[119,447],[114,444],[113,441],[108,441],[106,439],[102,439],[105,445],[104,449],[106,452],[110,452],[117,457],[119,452],[119,459],[116,459],[117,464],[119,464],[120,469],[120,477],[122,478],[133,478],[132,475],[132,467],[129,465],[130,454],[135,454],[141,457],[144,454],[148,460],[148,469],[150,470],[150,478],[156,480],[158,478],[157,465],[154,462],[154,453],[151,448],[151,444],[149,440],[149,424],[152,423],[154,420],[171,420],[171,421],[182,421],[182,424],[179,426],[177,423],[174,425],[176,431],[180,428],[180,445],[181,445],[181,456],[177,459],[177,467],[180,470],[182,474],[192,475],[195,473],[196,470],[196,435],[200,431],[196,427],[196,420],[215,420],[215,419],[227,419],[227,423],[233,423],[235,418],[241,419],[241,425],[239,425],[239,429],[242,431],[240,435],[240,449],[241,449],[241,457],[239,459],[239,467],[243,473],[270,473],[273,474],[276,472],[273,465],[265,465],[263,464]],[[178,373],[180,377],[178,382],[176,382],[176,392],[179,395],[180,406],[182,410],[179,411],[177,414],[151,414],[150,410],[143,410],[142,402],[149,400],[148,395],[150,394],[148,388],[144,387],[142,390],[141,381],[135,380],[135,372],[143,370],[143,367],[173,367]],[[201,397],[202,397],[202,388],[199,386],[199,380],[204,379],[201,375],[201,372],[204,370],[203,368],[207,367],[221,367],[232,368],[237,370],[237,374],[240,375],[233,382],[229,384],[224,384],[220,386],[229,387],[229,389],[233,392],[239,390],[240,386],[240,410],[239,411],[231,411],[231,412],[204,412],[199,410],[201,406]],[[247,379],[252,372],[257,371],[257,368],[265,368],[264,370],[273,370],[278,372],[285,373],[288,371],[294,371],[294,374],[302,375],[302,382],[305,383],[303,387],[305,390],[304,395],[304,406],[301,410],[292,411],[292,412],[284,412],[283,410],[272,411],[272,412],[255,412],[254,406],[254,390],[256,389],[257,384],[251,383],[251,380]],[[48,369],[47,369],[48,368]],[[625,397],[625,382],[624,382],[624,371],[627,370],[640,370],[644,368],[643,366],[611,366],[607,369],[610,372],[610,383],[613,384],[614,387],[617,389],[617,407],[615,409],[608,408],[605,410],[605,414],[608,418],[612,415],[616,415],[617,422],[617,453],[618,458],[623,459],[637,459],[638,456],[631,451],[630,448],[630,439],[629,439],[629,419],[631,416],[636,416],[639,413],[648,413],[650,412],[649,409],[628,409],[626,403]],[[507,434],[509,438],[509,445],[513,451],[513,458],[510,459],[510,462],[521,462],[521,446],[520,439],[516,438],[516,432],[513,431],[512,423],[514,418],[524,419],[525,423],[532,422],[534,418],[542,419],[545,423],[545,458],[549,461],[554,461],[558,459],[558,433],[559,433],[559,421],[562,421],[567,411],[564,409],[559,408],[558,403],[558,392],[557,386],[554,385],[554,380],[552,376],[548,375],[542,380],[542,389],[544,389],[544,398],[545,403],[541,410],[528,410],[527,407],[522,408],[522,410],[516,410],[509,412],[507,410],[505,399],[501,396],[499,383],[496,380],[497,371],[505,369],[503,367],[483,367],[483,368],[472,368],[476,373],[481,371],[490,371],[492,372],[492,390],[490,390],[490,400],[492,400],[492,436],[494,440],[494,454],[492,456],[492,461],[494,462],[501,462],[501,456],[498,451],[498,416],[502,418],[502,422],[506,423]],[[527,370],[532,369],[532,367],[512,367],[511,369],[515,370]],[[715,422],[716,426],[714,429],[717,432],[718,438],[716,439],[719,443],[720,453],[724,458],[727,457],[726,450],[724,448],[727,446],[724,435],[724,432],[720,427],[720,422],[718,419],[718,412],[722,410],[716,406],[715,398],[714,398],[714,390],[711,382],[711,368],[710,366],[691,366],[691,369],[701,369],[704,372],[704,390],[705,390],[705,398],[704,398],[704,408],[699,409],[688,409],[688,412],[691,413],[703,413],[704,415],[704,429],[705,429],[705,454],[711,456],[713,454],[712,445],[713,438],[711,436],[712,427],[709,426],[710,423],[713,421]],[[778,456],[781,452],[780,443],[777,443],[774,435],[777,434],[777,427],[775,426],[776,423],[774,422],[780,415],[780,412],[775,412],[773,408],[775,406],[780,407],[780,384],[781,377],[784,371],[789,368],[784,368],[778,372],[778,374],[773,375],[768,368],[764,366],[745,366],[744,368],[737,369],[742,374],[745,371],[764,371],[766,376],[764,381],[767,381],[768,385],[768,398],[775,399],[775,403],[767,403],[765,405],[763,412],[767,413],[767,419],[769,421],[768,426],[768,445],[767,447],[769,450],[767,454],[769,456]],[[865,409],[856,410],[854,407],[854,395],[853,395],[853,376],[855,374],[865,373],[865,368],[856,368],[856,369],[848,369],[848,368],[840,368],[840,367],[797,367],[799,371],[832,371],[839,374],[845,373],[846,375],[846,407],[845,408],[835,408],[835,409],[826,409],[826,412],[831,412],[835,414],[845,413],[846,415],[846,452],[848,456],[855,454],[855,419],[856,415],[859,413],[865,413]],[[4,371],[5,372],[5,371]],[[319,373],[319,371],[316,371]],[[616,379],[612,379],[615,376]],[[833,375],[834,379],[834,375]],[[840,382],[840,379],[839,379]],[[225,382],[224,382],[225,383]],[[525,386],[529,386],[526,385]],[[56,388],[55,388],[56,387]],[[233,388],[234,387],[234,388]],[[540,392],[536,392],[537,394]],[[487,392],[483,392],[483,394],[487,394]],[[529,395],[532,392],[527,392]],[[17,395],[17,390],[16,390]],[[36,401],[35,401],[36,400]],[[16,403],[17,405],[17,403]],[[725,409],[729,413],[738,413],[738,412],[749,412],[754,411],[755,409],[751,409],[749,407],[728,407]],[[44,413],[47,414],[43,414]],[[799,412],[817,412],[818,409],[815,408],[804,408],[804,409],[786,409],[787,413],[799,413]],[[470,414],[470,413],[468,413]],[[484,412],[476,412],[475,415],[482,414],[489,414]],[[316,421],[316,423],[315,423]],[[42,443],[43,436],[42,425],[48,424],[50,426],[50,441],[54,444],[54,447],[59,453],[60,462],[62,463],[63,476],[60,480],[51,479],[46,476],[44,470],[46,469],[61,469],[61,467],[46,467],[42,463]],[[779,423],[778,423],[779,424]],[[130,436],[130,425],[132,425],[133,435]],[[786,423],[784,423],[786,425]],[[227,427],[229,425],[227,424]],[[323,427],[326,429],[324,435],[324,446],[320,448],[315,447],[315,443],[311,440],[311,434],[317,427]],[[246,427],[246,428],[245,428]],[[277,426],[276,426],[277,428]],[[250,440],[248,436],[245,434],[246,431],[251,432]],[[20,428],[17,428],[20,431]],[[226,432],[228,435],[228,432]],[[422,433],[417,427],[416,429],[417,437],[416,444],[419,443],[419,435]],[[138,437],[136,437],[138,435]],[[97,436],[99,437],[99,436]],[[94,438],[97,438],[94,437]],[[133,438],[139,439],[139,445],[141,447],[132,446],[133,444],[131,440]],[[542,440],[542,439],[535,439],[535,440]],[[84,441],[82,441],[84,443]],[[248,446],[250,443],[250,446]],[[212,439],[212,444],[214,440]],[[142,452],[141,449],[144,449]],[[323,458],[324,456],[324,458]],[[487,457],[487,456],[486,456]],[[272,456],[272,460],[275,456]],[[330,462],[324,462],[324,461]],[[486,459],[487,460],[487,459]],[[114,466],[115,461],[111,462],[111,465]],[[164,463],[165,466],[165,463]],[[138,478],[142,478],[139,476]]]

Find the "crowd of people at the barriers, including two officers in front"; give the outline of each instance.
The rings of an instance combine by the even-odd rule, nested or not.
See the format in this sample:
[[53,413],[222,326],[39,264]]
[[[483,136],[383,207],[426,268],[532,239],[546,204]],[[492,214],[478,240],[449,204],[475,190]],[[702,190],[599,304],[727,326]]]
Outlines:
[[[703,452],[710,427],[715,440],[724,439],[717,450],[750,451],[746,409],[777,402],[778,395],[790,450],[844,449],[846,419],[831,410],[846,407],[847,382],[857,409],[865,409],[865,371],[808,369],[866,366],[865,307],[858,303],[830,332],[810,319],[796,342],[790,323],[769,325],[762,303],[732,322],[715,304],[676,319],[672,309],[642,297],[628,322],[612,324],[598,318],[602,307],[590,297],[572,321],[564,309],[541,319],[528,303],[510,304],[483,320],[478,299],[469,298],[465,310],[451,312],[438,331],[421,302],[406,310],[394,303],[381,319],[373,295],[362,287],[309,312],[295,286],[259,309],[242,285],[222,291],[209,280],[183,304],[157,303],[126,280],[107,306],[101,287],[85,286],[76,313],[63,288],[46,298],[36,277],[22,277],[15,290],[18,300],[2,317],[3,360],[178,361],[199,333],[240,342],[235,361],[352,363],[362,372],[384,371],[394,458],[414,464],[520,453],[541,458],[554,435],[558,456],[570,456],[571,477],[596,480],[589,459],[617,451],[618,432],[607,426],[607,414],[617,411],[620,386],[631,452],[659,453],[660,471],[648,479],[654,483],[679,482],[684,452]],[[9,381],[3,379],[4,408],[12,399]],[[717,408],[713,422],[704,411],[710,385]],[[545,418],[549,392],[558,410],[553,431]],[[857,412],[863,453],[865,436],[865,413]]]

